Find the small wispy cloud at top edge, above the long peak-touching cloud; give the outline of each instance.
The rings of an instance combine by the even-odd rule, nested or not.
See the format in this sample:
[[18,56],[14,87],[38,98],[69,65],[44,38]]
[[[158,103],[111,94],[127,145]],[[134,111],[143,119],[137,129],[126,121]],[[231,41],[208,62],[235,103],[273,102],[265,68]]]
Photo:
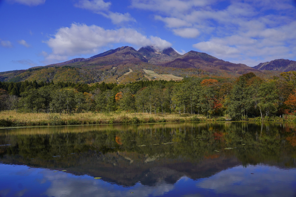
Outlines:
[[80,0],[78,3],[74,4],[74,6],[81,9],[91,10],[96,14],[101,14],[102,16],[111,19],[113,24],[136,21],[129,13],[122,14],[118,12],[111,12],[109,10],[111,2],[104,2],[103,0]]

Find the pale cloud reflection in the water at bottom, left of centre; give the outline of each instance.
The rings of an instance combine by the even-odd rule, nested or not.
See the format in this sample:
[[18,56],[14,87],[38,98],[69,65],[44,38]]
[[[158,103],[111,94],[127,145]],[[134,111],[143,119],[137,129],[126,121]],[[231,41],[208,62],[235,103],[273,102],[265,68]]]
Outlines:
[[47,196],[160,196],[174,189],[174,185],[164,182],[154,187],[136,184],[130,188],[123,188],[103,180],[92,179],[88,176],[74,176],[68,173],[44,171],[44,178],[51,182],[44,193]]

